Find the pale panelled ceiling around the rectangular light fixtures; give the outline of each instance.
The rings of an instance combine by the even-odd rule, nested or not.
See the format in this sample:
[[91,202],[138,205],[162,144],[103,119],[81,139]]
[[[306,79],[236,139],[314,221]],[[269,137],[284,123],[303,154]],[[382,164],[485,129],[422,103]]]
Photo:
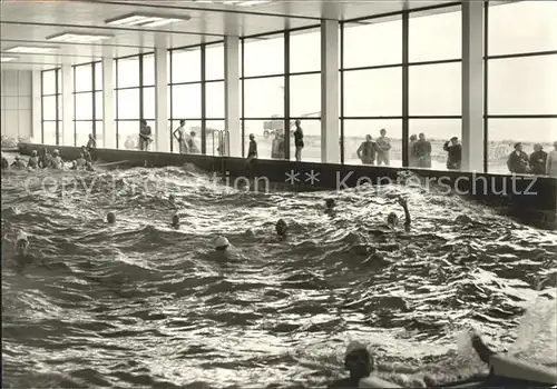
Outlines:
[[[20,1],[0,3],[0,50],[14,46],[56,46],[56,54],[17,54],[9,67],[84,63],[102,57],[124,57],[158,48],[177,48],[214,42],[224,36],[252,36],[285,29],[317,26],[321,18],[352,19],[427,7],[448,0],[384,1],[283,1],[237,7],[197,1]],[[107,26],[105,20],[129,13],[190,18],[156,29]],[[49,43],[46,38],[63,32],[111,34],[97,44]]]

